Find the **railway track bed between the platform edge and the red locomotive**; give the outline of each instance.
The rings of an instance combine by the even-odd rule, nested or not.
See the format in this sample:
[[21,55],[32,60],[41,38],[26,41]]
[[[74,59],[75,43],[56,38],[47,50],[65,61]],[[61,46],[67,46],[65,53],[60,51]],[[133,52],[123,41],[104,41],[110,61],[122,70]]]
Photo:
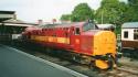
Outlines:
[[86,65],[81,65],[72,61],[66,61],[66,58],[60,58],[53,54],[45,54],[40,51],[32,51],[22,46],[15,46],[15,48],[19,48],[25,53],[32,54],[34,56],[38,56],[40,58],[53,62],[55,64],[62,65],[64,67],[67,67],[70,69],[73,69],[75,72],[82,73],[84,75],[87,75],[89,77],[138,77],[138,68],[125,66],[117,67],[113,70],[95,70],[93,68],[89,68]]

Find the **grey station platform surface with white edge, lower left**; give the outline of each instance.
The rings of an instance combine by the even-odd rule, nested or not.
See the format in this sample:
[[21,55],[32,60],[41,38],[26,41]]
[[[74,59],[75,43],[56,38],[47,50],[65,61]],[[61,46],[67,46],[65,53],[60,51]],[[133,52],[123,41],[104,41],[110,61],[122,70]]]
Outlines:
[[15,48],[0,45],[0,77],[87,77]]

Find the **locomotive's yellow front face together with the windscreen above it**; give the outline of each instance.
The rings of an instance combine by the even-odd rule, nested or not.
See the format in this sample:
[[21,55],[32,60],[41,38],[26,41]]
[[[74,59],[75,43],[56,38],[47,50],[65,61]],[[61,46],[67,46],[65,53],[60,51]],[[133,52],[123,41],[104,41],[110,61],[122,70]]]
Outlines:
[[96,24],[92,22],[85,23],[83,31],[88,32],[88,35],[93,35],[92,55],[95,58],[95,66],[100,69],[108,69],[116,66],[115,33],[112,31],[99,31]]

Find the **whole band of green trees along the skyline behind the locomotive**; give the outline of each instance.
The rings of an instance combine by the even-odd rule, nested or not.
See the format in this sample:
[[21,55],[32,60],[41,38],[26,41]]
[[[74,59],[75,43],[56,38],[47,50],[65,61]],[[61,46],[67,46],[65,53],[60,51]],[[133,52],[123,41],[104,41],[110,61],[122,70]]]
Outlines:
[[73,22],[96,20],[97,23],[115,23],[120,25],[125,22],[138,21],[138,0],[128,0],[128,3],[119,0],[102,0],[100,8],[92,10],[87,3],[79,3],[72,14],[63,14],[61,20]]

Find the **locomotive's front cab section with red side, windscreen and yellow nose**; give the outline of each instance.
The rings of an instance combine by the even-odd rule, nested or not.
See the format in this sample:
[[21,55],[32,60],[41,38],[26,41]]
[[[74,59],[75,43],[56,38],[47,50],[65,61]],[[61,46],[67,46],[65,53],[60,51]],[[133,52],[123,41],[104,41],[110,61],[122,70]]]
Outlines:
[[[79,30],[78,30],[79,29]],[[100,69],[116,66],[116,35],[112,31],[98,30],[92,22],[75,28],[75,35],[71,37],[75,53],[85,54],[93,58],[93,63]]]

